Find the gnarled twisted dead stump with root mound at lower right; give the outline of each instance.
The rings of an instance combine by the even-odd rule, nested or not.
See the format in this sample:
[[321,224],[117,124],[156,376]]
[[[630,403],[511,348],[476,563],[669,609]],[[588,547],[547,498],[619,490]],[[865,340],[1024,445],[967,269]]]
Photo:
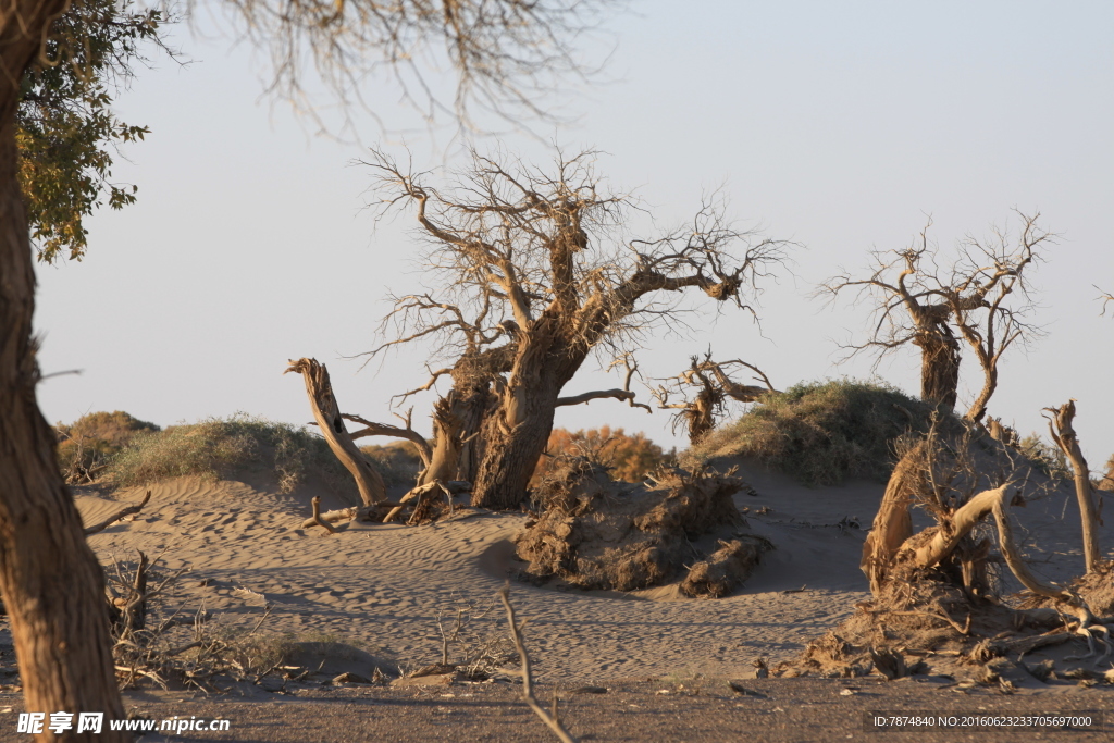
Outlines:
[[[1065,418],[1068,407],[1056,411]],[[1069,430],[1071,416],[1066,416]],[[882,507],[863,546],[862,569],[872,598],[833,632],[813,641],[786,673],[866,675],[887,678],[925,671],[907,661],[984,666],[981,678],[1014,656],[1067,642],[1087,642],[1089,658],[1105,658],[1114,626],[1111,566],[1057,586],[1038,579],[1026,565],[1013,535],[1009,506],[1024,506],[1043,476],[1012,449],[969,429],[942,437],[934,429],[908,449],[886,489]],[[1089,497],[1089,491],[1087,492]],[[909,509],[920,506],[936,526],[912,532]],[[1081,505],[1084,505],[1081,501]],[[1084,534],[1093,535],[1094,512],[1082,509]],[[989,537],[978,531],[993,518],[1000,561],[1025,588],[1003,598],[990,579]],[[1092,525],[1088,531],[1086,525]],[[1089,567],[1089,563],[1088,563]],[[995,659],[997,658],[997,659]]]

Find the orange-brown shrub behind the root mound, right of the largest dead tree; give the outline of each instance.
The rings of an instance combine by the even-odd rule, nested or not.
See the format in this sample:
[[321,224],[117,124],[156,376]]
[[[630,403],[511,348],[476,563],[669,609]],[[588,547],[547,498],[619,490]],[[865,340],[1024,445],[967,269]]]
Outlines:
[[662,448],[646,438],[643,432],[627,434],[622,428],[614,431],[609,426],[599,429],[579,430],[575,433],[563,428],[555,428],[546,444],[546,454],[530,479],[530,487],[536,487],[545,475],[553,469],[556,458],[561,454],[578,454],[603,465],[616,480],[642,482],[646,476],[662,465],[675,461],[675,456],[662,451]]

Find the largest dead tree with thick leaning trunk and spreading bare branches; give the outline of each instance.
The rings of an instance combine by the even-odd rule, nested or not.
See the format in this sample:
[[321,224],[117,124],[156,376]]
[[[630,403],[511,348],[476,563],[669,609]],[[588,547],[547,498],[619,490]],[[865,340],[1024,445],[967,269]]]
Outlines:
[[[469,402],[476,442],[472,504],[511,508],[526,493],[558,404],[626,391],[563,392],[596,349],[624,344],[697,290],[750,310],[755,281],[784,257],[785,243],[735,229],[705,203],[685,228],[623,243],[627,196],[605,193],[594,153],[558,155],[553,173],[473,154],[471,168],[441,190],[427,174],[377,154],[383,208],[408,205],[429,244],[427,277],[442,289],[398,297],[398,338],[372,354],[419,339],[452,365],[446,401]],[[430,384],[432,384],[432,381]]]

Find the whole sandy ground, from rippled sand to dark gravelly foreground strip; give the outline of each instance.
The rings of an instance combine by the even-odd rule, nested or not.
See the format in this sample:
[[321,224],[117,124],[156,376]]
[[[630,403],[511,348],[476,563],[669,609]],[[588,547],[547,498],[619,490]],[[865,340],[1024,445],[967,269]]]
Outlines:
[[[670,730],[666,736],[673,740],[736,740],[739,733],[753,735],[759,731],[761,734],[753,740],[789,741],[825,740],[828,733],[846,730],[839,737],[848,734],[857,737],[862,733],[861,721],[854,724],[849,721],[858,720],[856,715],[861,716],[867,708],[874,708],[871,704],[893,708],[911,703],[902,701],[903,692],[897,685],[880,686],[878,682],[863,680],[857,680],[856,686],[866,684],[881,690],[870,692],[877,697],[866,692],[836,696],[841,688],[839,684],[843,683],[836,681],[751,682],[773,684],[776,691],[768,695],[770,698],[740,697],[724,685],[725,678],[752,677],[751,662],[756,657],[770,658],[773,665],[795,655],[808,641],[833,627],[853,610],[854,603],[868,596],[858,561],[866,529],[883,490],[882,485],[873,482],[809,489],[761,468],[745,463],[743,467],[741,475],[758,495],[740,493],[736,501],[746,510],[751,529],[769,537],[776,549],[735,595],[717,600],[691,600],[678,599],[670,588],[623,595],[512,585],[511,598],[520,618],[528,619],[526,639],[536,677],[543,684],[559,686],[565,692],[577,684],[627,688],[598,697],[570,697],[570,718],[578,713],[586,715],[580,732],[596,730],[596,740],[658,737],[645,732],[649,730]],[[135,520],[90,537],[90,545],[106,565],[117,558],[135,559],[140,549],[152,556],[162,554],[167,568],[190,568],[170,596],[173,602],[189,610],[204,606],[214,613],[216,622],[228,625],[253,624],[264,606],[270,605],[266,632],[363,648],[368,655],[360,654],[360,667],[354,668],[363,675],[370,675],[375,665],[393,674],[400,666],[418,667],[436,662],[440,655],[438,613],[452,615],[458,607],[468,605],[479,612],[491,602],[510,565],[509,540],[525,519],[521,515],[468,509],[458,518],[430,526],[352,524],[336,535],[322,536],[317,529],[300,528],[309,514],[309,498],[314,495],[310,490],[283,496],[265,482],[208,483],[196,478],[163,482],[152,490],[150,504]],[[140,491],[124,491],[113,498],[84,491],[77,495],[77,502],[86,522],[91,524],[140,497]],[[325,500],[330,508],[340,505],[330,502],[328,497]],[[1078,517],[1069,492],[1057,492],[1014,512],[1038,574],[1065,579],[1081,570]],[[1101,544],[1114,545],[1112,530],[1103,528]],[[473,619],[470,630],[480,635],[495,632],[500,618],[501,612],[492,610]],[[643,685],[631,682],[633,685],[627,687],[615,686],[614,680],[619,678],[642,680]],[[673,690],[671,694],[656,693],[665,683],[661,680],[672,684],[667,686]],[[688,693],[694,683],[703,685],[702,692],[695,696],[678,692],[676,687],[685,680],[690,683]],[[255,701],[236,697],[186,701],[189,695],[183,693],[163,697],[141,693],[130,698],[133,703],[164,710],[182,705],[190,710],[232,705],[226,716],[241,721],[238,732],[209,740],[431,740],[429,735],[440,740],[546,740],[537,729],[538,723],[520,708],[500,712],[506,720],[492,729],[488,717],[494,713],[477,707],[502,710],[504,703],[512,705],[517,692],[510,686],[455,686],[439,692],[451,693],[451,697],[417,690],[307,687],[286,690],[289,693],[283,694],[256,691],[254,694],[260,698],[252,697]],[[473,690],[473,696],[465,696],[469,688]],[[811,701],[792,701],[798,694],[794,688],[803,694],[801,700]],[[952,698],[957,695],[935,688],[925,691],[912,684],[905,688],[929,695],[918,698],[917,704],[935,704],[946,698],[951,708],[970,706],[968,700],[957,702]],[[994,708],[1028,705],[1026,708],[1052,712],[1047,700],[1042,698],[1053,688],[1023,690],[1020,695],[987,698],[998,705]],[[1072,694],[1057,695],[1063,702],[1056,701],[1052,706],[1112,708],[1114,693],[1105,687],[1082,690],[1067,684],[1064,690]],[[4,691],[11,692],[11,687]],[[622,694],[633,696],[627,698]],[[321,704],[307,701],[319,697]],[[631,701],[635,697],[642,703]],[[10,702],[0,700],[0,703],[11,704],[18,711],[18,698],[9,698]],[[782,698],[784,703],[779,702]],[[420,704],[416,707],[411,701]],[[641,715],[639,704],[655,712]],[[838,720],[825,718],[824,705],[832,704],[841,715]],[[779,705],[781,712],[774,711]],[[788,712],[786,705],[793,705],[795,712]],[[310,707],[316,712],[311,713]],[[232,714],[233,710],[237,716]],[[212,711],[202,714],[216,716]],[[281,730],[274,727],[276,714],[285,721]],[[440,721],[437,724],[441,727],[437,730],[444,735],[429,729],[424,737],[408,736],[407,731],[413,731],[405,720],[416,714]],[[306,732],[305,725],[316,724],[317,715],[336,717],[339,726],[331,729],[335,735]],[[384,715],[394,721],[393,732],[380,736],[383,731],[375,721]],[[794,715],[802,716],[797,720]],[[639,722],[605,724],[604,718]],[[345,720],[364,723],[361,726],[344,723]],[[457,722],[461,726],[455,726]],[[674,722],[682,727],[670,727]],[[691,735],[683,732],[690,730],[683,725],[690,724],[695,725]],[[348,733],[345,725],[351,727]],[[369,725],[378,732],[369,732]],[[12,726],[0,722],[0,739],[9,727]],[[451,734],[450,729],[455,731]],[[818,735],[820,730],[828,733],[818,737],[809,730]],[[729,735],[730,732],[734,734]],[[1092,740],[1093,735],[1104,736],[1093,740],[1108,740],[1095,732],[1062,734],[1069,740]],[[878,740],[898,736],[871,735]],[[928,735],[919,740],[965,740],[944,733],[938,739],[932,737],[935,733]],[[1056,740],[1047,734],[1046,739]]]

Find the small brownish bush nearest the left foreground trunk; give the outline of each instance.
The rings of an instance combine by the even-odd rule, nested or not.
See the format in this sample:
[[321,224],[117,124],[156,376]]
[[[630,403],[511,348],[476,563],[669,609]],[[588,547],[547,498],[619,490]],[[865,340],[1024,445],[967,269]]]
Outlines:
[[158,431],[154,423],[117,410],[82,416],[72,423],[56,423],[58,463],[70,485],[91,481],[109,459],[140,431]]

